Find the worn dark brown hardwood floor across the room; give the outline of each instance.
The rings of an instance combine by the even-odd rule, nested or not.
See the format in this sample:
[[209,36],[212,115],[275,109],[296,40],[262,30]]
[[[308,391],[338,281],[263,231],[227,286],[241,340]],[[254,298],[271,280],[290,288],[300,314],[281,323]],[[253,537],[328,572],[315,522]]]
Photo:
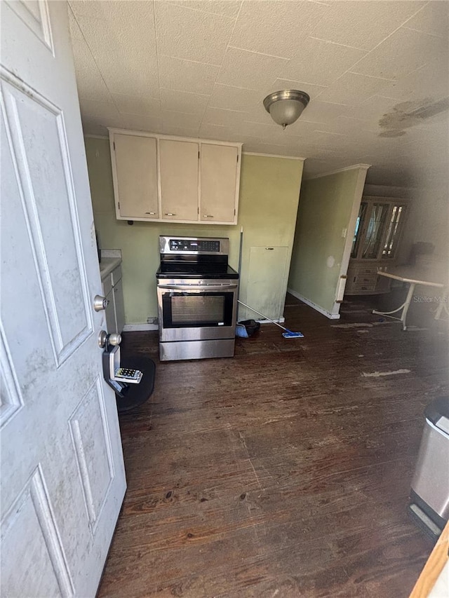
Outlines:
[[432,548],[406,505],[448,329],[370,308],[328,320],[288,295],[304,339],[262,325],[233,359],[160,363],[156,333],[124,335],[156,384],[120,417],[128,491],[99,597],[408,597]]

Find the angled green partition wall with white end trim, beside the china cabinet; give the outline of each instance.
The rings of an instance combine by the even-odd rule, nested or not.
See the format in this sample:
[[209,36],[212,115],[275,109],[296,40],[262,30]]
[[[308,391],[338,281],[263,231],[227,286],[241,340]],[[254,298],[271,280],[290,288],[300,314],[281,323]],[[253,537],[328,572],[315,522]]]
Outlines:
[[351,217],[358,172],[337,172],[301,186],[288,287],[329,313],[346,241],[342,229]]

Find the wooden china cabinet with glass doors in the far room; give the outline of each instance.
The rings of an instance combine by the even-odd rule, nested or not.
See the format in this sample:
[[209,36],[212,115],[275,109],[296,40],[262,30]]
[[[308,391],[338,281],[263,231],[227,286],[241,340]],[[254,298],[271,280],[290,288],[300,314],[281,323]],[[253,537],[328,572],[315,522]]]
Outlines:
[[408,201],[398,198],[362,198],[352,240],[346,294],[389,291],[389,279],[377,269],[396,263]]

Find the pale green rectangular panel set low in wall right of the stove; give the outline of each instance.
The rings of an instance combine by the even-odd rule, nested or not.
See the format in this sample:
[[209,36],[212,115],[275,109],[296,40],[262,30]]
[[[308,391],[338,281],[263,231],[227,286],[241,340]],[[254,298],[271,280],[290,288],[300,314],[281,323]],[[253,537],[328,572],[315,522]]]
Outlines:
[[[245,303],[275,320],[283,315],[288,247],[251,247]],[[247,313],[248,318],[257,318]],[[239,315],[241,318],[241,315]]]

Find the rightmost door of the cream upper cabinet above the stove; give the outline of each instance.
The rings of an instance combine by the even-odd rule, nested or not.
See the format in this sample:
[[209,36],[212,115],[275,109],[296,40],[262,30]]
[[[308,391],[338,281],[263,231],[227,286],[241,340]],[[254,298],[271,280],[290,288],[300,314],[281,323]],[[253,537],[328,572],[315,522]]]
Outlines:
[[201,221],[234,222],[238,156],[236,147],[201,144]]

